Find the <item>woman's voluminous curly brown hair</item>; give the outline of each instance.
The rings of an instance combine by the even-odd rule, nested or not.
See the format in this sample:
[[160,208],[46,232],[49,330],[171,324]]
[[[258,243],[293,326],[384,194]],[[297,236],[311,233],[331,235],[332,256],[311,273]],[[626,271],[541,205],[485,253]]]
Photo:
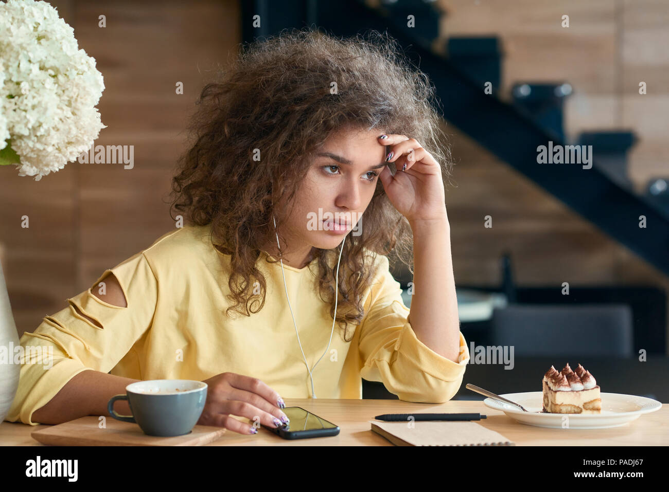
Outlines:
[[[440,162],[448,178],[450,150],[440,144],[444,134],[434,96],[427,76],[399,53],[394,39],[377,31],[367,39],[340,39],[311,28],[282,31],[243,45],[237,59],[205,85],[188,126],[195,144],[179,158],[172,179],[171,195],[177,196],[170,215],[174,208],[188,223],[211,224],[214,247],[230,256],[228,299],[235,304],[227,316],[230,310],[250,316],[262,309],[260,245],[274,238],[272,215],[277,228],[288,215],[273,204],[294,199],[314,154],[333,132],[405,134]],[[262,160],[254,159],[258,149]],[[375,275],[377,254],[388,255],[391,267],[400,259],[413,274],[411,227],[380,180],[364,215],[361,235],[347,236],[339,268],[336,320],[344,330],[363,319],[363,293]],[[314,257],[320,298],[330,303],[334,318],[333,259],[339,248],[316,249]],[[252,295],[253,279],[260,294]]]

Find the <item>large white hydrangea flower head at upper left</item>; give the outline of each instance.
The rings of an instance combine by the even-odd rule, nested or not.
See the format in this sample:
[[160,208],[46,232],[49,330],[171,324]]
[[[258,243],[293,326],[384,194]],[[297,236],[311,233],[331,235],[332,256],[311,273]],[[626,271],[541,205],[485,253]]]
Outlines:
[[0,150],[11,138],[19,176],[64,168],[106,128],[104,81],[74,29],[48,3],[0,2]]

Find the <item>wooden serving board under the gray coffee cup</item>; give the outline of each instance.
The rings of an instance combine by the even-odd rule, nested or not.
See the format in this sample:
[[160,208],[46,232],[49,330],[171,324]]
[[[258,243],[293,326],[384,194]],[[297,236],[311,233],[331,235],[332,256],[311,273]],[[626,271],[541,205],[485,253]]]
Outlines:
[[225,427],[196,425],[183,436],[147,436],[137,424],[106,418],[106,428],[99,427],[98,417],[88,415],[62,424],[42,428],[31,437],[52,446],[201,446],[219,439]]

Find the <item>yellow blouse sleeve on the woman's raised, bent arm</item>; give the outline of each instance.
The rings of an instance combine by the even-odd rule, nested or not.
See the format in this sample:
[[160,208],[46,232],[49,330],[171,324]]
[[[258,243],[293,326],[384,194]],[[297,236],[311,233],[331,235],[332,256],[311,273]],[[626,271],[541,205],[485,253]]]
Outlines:
[[400,400],[446,402],[458,392],[469,362],[464,336],[460,332],[460,362],[454,362],[418,340],[408,317],[399,282],[389,271],[387,257],[379,256],[360,326],[361,376],[383,382]]

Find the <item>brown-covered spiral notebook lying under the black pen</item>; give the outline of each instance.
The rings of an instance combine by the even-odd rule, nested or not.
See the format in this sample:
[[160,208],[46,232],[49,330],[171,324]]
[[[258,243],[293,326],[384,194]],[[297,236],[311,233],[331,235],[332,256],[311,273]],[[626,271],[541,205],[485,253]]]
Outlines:
[[476,422],[369,420],[372,430],[396,446],[515,446],[500,433]]

